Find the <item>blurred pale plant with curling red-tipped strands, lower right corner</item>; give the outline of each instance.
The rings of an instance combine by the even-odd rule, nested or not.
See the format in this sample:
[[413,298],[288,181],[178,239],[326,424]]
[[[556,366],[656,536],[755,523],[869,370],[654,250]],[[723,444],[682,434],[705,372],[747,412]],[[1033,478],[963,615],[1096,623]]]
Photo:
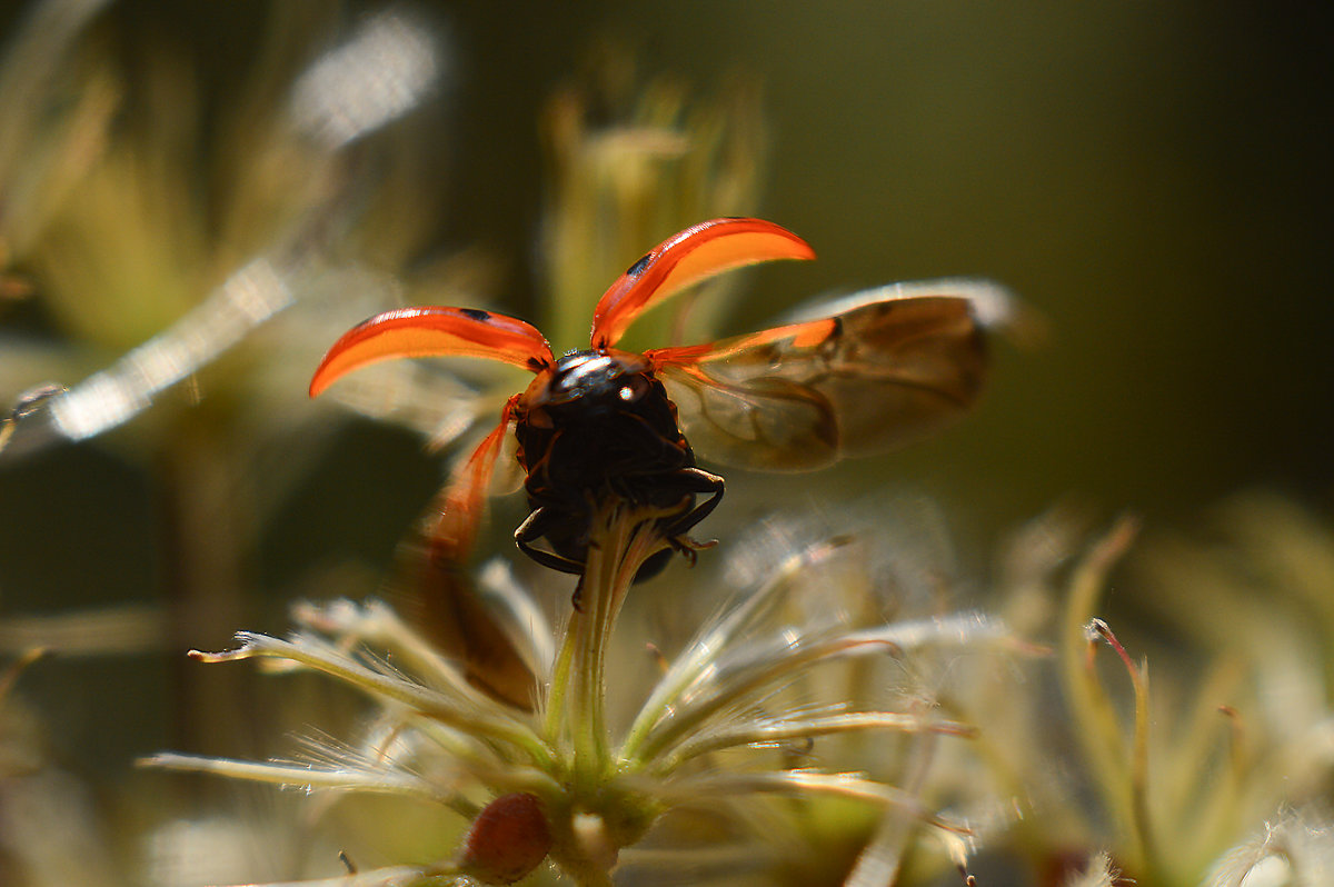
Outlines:
[[[1055,674],[1005,695],[960,675],[971,695],[943,700],[982,727],[976,755],[943,770],[983,847],[1069,883],[1111,878],[1098,854],[1111,883],[1239,884],[1247,866],[1267,872],[1247,884],[1321,883],[1329,642],[1321,619],[1295,614],[1329,587],[1334,538],[1274,495],[1222,514],[1211,544],[1163,532],[1137,543],[1122,520],[1085,548],[1070,510],[1017,536],[998,612],[1053,639]],[[1147,655],[1145,626],[1099,616],[1114,570],[1121,599],[1158,614]],[[1277,862],[1289,844],[1301,859]]]

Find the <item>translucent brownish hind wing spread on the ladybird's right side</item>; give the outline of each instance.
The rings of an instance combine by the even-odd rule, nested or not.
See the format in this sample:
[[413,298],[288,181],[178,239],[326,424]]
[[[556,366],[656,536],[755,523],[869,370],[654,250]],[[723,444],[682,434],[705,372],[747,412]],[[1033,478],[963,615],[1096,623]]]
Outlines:
[[875,289],[831,316],[646,357],[706,460],[818,468],[903,446],[972,404],[984,324],[971,293],[951,293],[959,288]]

